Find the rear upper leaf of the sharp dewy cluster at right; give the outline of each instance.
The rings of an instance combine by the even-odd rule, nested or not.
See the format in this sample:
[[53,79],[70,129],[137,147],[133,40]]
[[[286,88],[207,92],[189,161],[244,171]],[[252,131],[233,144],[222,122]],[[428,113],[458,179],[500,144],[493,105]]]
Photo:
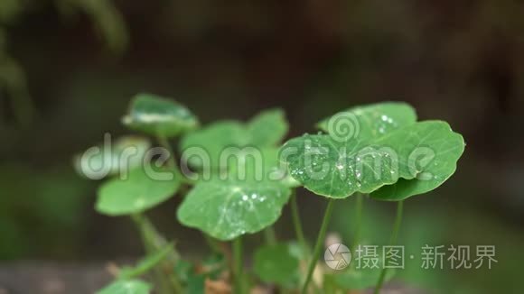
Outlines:
[[416,112],[403,102],[356,106],[323,119],[317,127],[341,141],[344,138],[379,138],[398,128],[416,123]]

